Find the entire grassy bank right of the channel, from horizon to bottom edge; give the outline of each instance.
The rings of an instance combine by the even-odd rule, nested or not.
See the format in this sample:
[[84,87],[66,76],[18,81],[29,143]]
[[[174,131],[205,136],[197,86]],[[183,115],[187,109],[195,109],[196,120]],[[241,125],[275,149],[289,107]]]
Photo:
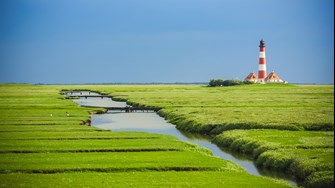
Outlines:
[[[159,114],[184,131],[224,131],[215,139],[218,145],[250,154],[258,166],[288,172],[307,187],[334,184],[333,86],[89,88],[129,104],[161,107]],[[235,129],[243,131],[230,131]]]

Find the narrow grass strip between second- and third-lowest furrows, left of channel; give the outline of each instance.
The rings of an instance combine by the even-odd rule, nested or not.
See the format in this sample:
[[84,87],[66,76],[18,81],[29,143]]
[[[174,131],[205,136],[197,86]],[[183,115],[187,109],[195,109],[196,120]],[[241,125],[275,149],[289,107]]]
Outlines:
[[175,139],[81,139],[81,140],[6,140],[0,143],[2,153],[99,151],[99,150],[182,150],[184,143]]

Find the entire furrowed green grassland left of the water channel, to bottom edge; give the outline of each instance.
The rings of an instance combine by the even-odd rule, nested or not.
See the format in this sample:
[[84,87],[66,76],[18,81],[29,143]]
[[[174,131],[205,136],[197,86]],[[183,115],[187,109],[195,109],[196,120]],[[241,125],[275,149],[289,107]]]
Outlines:
[[83,125],[96,109],[70,87],[0,85],[1,187],[289,187],[170,136]]

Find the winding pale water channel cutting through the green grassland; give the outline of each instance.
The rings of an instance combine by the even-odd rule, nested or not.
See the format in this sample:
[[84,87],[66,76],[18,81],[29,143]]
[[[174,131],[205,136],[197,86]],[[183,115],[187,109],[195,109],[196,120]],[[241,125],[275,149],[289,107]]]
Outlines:
[[[100,94],[89,91],[77,91],[67,93],[68,96],[99,96]],[[115,102],[108,97],[80,97],[74,99],[80,106],[92,107],[126,107],[125,102]],[[164,118],[158,116],[155,112],[132,112],[125,113],[121,111],[107,111],[105,114],[97,114],[91,116],[91,125],[113,131],[137,131],[158,134],[167,134],[177,137],[179,140],[196,144],[200,147],[207,148],[212,151],[213,155],[225,160],[232,161],[247,170],[248,173],[256,176],[267,176],[271,178],[281,179],[292,186],[297,183],[284,173],[271,172],[261,170],[256,167],[254,162],[248,157],[232,154],[223,148],[218,147],[211,142],[211,138],[199,134],[191,134],[181,132],[175,128],[175,125],[168,123]]]

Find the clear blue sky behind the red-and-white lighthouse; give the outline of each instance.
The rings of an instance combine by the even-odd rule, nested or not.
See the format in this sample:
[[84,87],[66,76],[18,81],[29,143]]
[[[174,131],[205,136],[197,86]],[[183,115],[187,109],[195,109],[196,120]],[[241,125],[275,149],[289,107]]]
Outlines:
[[333,0],[2,0],[0,82],[334,82]]

